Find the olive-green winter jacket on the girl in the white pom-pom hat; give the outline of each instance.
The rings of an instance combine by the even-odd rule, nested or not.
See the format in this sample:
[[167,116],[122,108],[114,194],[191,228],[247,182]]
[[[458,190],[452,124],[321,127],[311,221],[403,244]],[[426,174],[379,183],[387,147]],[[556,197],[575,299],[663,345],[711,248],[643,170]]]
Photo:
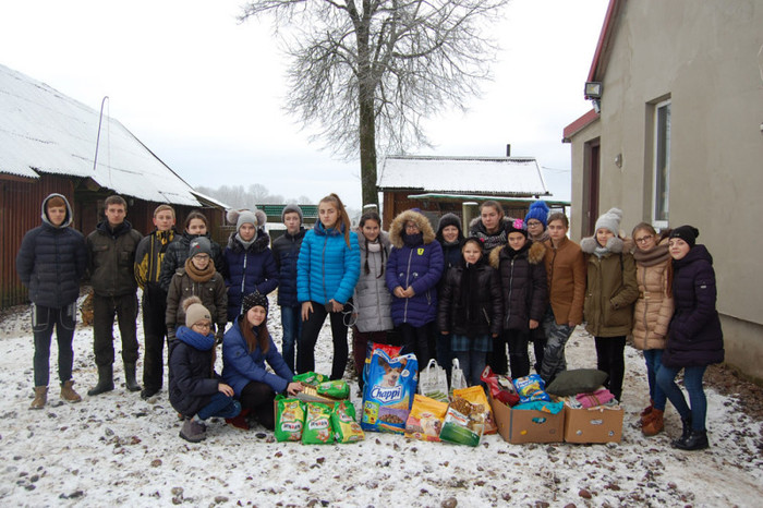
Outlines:
[[610,238],[602,257],[594,254],[597,246],[594,238],[580,242],[588,267],[585,330],[594,337],[626,336],[633,328],[633,302],[639,298],[635,263],[622,239]]

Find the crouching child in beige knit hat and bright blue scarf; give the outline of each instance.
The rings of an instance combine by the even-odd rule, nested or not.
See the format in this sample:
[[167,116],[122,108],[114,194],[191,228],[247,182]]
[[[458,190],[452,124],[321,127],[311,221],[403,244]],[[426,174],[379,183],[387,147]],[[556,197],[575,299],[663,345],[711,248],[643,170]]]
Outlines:
[[175,330],[177,343],[170,355],[170,402],[183,415],[180,437],[191,443],[206,438],[204,420],[234,418],[241,404],[233,388],[215,373],[215,334],[211,315],[198,297],[183,301],[185,326]]

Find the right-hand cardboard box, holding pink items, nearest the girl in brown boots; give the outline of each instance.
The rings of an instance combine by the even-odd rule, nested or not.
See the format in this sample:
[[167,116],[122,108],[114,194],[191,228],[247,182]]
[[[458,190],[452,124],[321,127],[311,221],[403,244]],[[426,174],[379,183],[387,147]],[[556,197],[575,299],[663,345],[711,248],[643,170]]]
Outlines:
[[567,443],[619,443],[622,438],[620,407],[572,409],[565,406],[565,440]]

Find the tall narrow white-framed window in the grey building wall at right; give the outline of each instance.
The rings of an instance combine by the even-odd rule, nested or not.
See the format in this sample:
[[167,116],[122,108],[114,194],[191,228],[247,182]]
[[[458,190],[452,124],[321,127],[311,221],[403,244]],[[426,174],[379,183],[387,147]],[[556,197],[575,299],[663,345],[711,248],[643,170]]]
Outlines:
[[668,225],[670,196],[670,101],[655,105],[654,111],[654,195],[652,222],[659,228]]

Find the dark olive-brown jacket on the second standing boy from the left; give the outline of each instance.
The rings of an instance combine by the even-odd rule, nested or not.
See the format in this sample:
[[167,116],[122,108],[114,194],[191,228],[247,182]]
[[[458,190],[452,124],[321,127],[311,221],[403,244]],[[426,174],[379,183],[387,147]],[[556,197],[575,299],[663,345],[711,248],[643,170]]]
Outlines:
[[123,297],[137,291],[135,251],[143,235],[125,220],[113,231],[108,220],[87,235],[90,286],[98,297]]

